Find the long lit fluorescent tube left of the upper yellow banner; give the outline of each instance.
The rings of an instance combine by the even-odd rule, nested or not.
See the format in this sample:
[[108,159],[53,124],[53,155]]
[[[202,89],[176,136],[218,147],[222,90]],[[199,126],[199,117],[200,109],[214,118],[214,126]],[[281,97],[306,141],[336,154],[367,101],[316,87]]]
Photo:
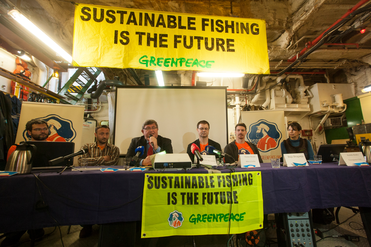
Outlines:
[[72,57],[62,49],[62,47],[58,46],[52,39],[50,39],[43,31],[41,31],[38,27],[35,26],[29,19],[23,16],[23,14],[19,13],[18,10],[10,10],[8,12],[9,16],[13,17],[18,23],[22,26],[26,27],[27,30],[31,31],[38,37],[41,41],[43,41],[47,46],[52,48],[59,56],[63,57],[69,63],[72,63]]

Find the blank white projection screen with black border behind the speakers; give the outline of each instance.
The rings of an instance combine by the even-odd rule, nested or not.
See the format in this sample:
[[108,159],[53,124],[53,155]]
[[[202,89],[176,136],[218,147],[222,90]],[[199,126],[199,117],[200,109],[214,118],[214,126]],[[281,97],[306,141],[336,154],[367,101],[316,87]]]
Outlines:
[[226,87],[123,86],[116,88],[113,144],[126,154],[131,139],[142,136],[147,119],[158,123],[158,134],[171,139],[174,153],[186,153],[198,139],[197,123],[210,123],[209,138],[227,145]]

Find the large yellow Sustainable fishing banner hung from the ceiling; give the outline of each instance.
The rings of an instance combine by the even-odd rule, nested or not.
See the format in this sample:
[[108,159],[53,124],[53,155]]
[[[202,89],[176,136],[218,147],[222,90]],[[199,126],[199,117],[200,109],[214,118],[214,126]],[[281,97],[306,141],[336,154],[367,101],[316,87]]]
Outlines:
[[270,73],[265,20],[89,4],[75,9],[72,57],[83,67]]

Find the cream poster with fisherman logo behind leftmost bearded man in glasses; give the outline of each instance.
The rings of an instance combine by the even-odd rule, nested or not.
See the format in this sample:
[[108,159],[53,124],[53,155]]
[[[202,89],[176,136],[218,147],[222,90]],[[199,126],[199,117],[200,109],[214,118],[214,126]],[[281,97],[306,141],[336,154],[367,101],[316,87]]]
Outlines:
[[[23,101],[19,118],[16,143],[30,141],[26,123],[31,119],[45,120],[49,126],[48,141],[75,143],[75,152],[81,148],[84,106],[49,104]],[[77,158],[74,159],[77,164]]]

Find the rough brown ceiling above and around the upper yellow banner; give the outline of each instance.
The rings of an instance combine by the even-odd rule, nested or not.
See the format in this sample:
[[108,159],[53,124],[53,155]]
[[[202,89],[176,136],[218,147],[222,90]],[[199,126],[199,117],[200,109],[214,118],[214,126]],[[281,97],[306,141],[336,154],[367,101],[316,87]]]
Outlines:
[[[85,4],[179,13],[237,16],[265,19],[270,61],[286,61],[315,39],[359,0],[83,0]],[[65,0],[0,0],[4,6],[17,7],[72,54],[74,5]],[[354,20],[340,30],[348,29]],[[368,22],[368,21],[367,21]],[[367,23],[366,23],[367,24]],[[301,39],[304,37],[303,39]],[[361,60],[371,54],[371,29],[360,34],[354,30],[338,43],[355,46],[322,46],[311,55],[313,61]],[[300,40],[300,41],[299,41]],[[299,41],[299,42],[298,42]],[[297,44],[295,44],[298,42]],[[294,45],[295,44],[295,45]],[[323,49],[323,50],[321,50]]]

